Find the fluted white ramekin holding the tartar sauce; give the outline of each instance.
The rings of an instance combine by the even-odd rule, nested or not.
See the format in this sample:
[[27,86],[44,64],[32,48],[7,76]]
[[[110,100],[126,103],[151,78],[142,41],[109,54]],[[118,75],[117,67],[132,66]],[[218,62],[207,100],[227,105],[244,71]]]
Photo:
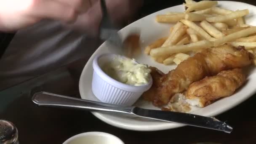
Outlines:
[[93,60],[92,91],[102,102],[131,106],[151,87],[152,77],[150,76],[149,83],[139,86],[127,85],[109,77],[101,67],[113,61],[115,56],[117,55],[102,54]]

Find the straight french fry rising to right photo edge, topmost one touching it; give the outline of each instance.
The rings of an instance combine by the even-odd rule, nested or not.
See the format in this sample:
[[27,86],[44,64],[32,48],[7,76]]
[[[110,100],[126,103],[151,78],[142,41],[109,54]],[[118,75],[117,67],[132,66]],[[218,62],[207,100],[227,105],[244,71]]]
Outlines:
[[256,27],[250,27],[248,29],[243,29],[241,31],[232,33],[230,35],[226,35],[226,36],[222,37],[221,39],[215,40],[214,46],[218,46],[223,43],[231,42],[231,41],[234,41],[241,37],[247,37],[248,35],[251,35],[254,33],[256,33]]

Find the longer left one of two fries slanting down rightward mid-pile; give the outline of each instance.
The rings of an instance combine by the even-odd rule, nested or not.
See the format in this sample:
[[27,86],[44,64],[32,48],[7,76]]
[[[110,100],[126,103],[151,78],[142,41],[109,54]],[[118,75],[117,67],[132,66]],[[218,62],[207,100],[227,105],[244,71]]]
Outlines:
[[211,35],[205,32],[201,27],[197,26],[197,24],[195,24],[194,22],[185,19],[182,19],[181,22],[187,25],[189,28],[194,29],[199,35],[204,37],[206,40],[213,40],[213,37],[211,37]]

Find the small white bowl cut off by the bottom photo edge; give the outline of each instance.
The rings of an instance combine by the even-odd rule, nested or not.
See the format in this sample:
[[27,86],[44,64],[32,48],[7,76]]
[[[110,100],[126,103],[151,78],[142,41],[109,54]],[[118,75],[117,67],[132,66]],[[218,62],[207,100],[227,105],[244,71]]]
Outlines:
[[63,144],[124,144],[124,142],[109,133],[87,132],[72,136]]

